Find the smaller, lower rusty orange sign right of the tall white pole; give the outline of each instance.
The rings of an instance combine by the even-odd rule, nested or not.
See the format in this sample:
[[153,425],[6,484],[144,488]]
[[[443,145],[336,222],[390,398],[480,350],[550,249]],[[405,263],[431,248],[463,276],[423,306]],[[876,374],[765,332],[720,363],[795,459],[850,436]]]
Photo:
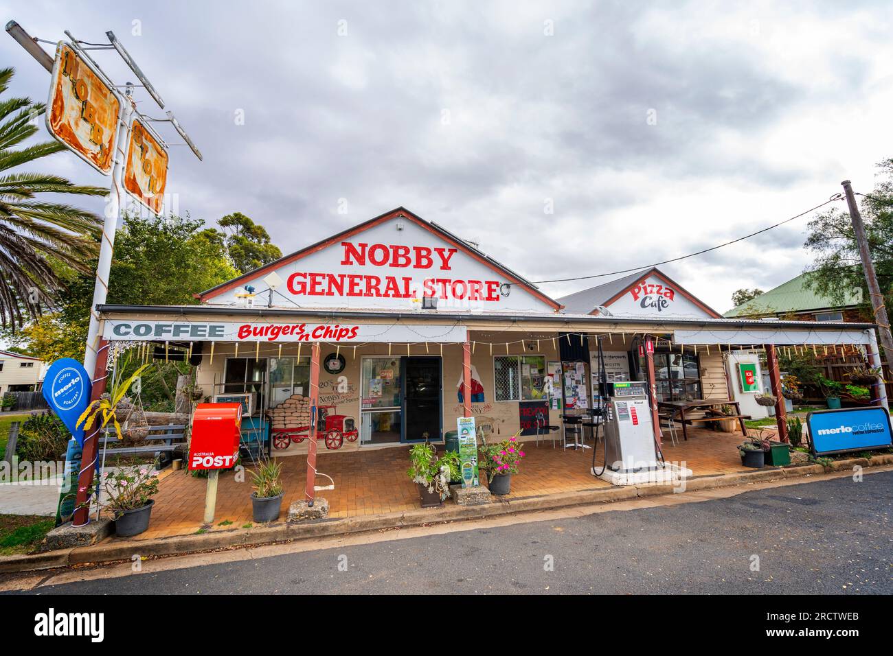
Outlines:
[[161,139],[139,119],[133,120],[124,169],[124,190],[155,214],[162,213],[168,154]]

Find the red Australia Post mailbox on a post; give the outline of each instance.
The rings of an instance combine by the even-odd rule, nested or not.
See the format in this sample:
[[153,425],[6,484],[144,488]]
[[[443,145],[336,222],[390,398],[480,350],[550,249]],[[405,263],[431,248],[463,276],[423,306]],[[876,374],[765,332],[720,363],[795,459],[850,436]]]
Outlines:
[[230,469],[241,425],[241,403],[199,403],[192,415],[189,469]]

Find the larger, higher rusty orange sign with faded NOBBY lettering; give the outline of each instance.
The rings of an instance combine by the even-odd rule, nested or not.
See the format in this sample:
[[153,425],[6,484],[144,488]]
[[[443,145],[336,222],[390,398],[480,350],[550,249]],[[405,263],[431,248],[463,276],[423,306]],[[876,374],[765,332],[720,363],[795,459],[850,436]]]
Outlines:
[[63,41],[56,46],[46,129],[104,175],[111,175],[121,99]]

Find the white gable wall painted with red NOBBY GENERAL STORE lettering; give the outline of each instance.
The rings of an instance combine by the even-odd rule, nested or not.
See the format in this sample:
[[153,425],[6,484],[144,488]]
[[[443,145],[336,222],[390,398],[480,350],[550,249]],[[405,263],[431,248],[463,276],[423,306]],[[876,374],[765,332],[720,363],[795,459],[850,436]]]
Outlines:
[[[398,229],[400,226],[400,229]],[[274,305],[300,308],[351,308],[412,311],[423,296],[448,311],[553,311],[522,285],[508,284],[501,271],[409,219],[386,220],[282,264],[283,284]],[[265,305],[269,287],[263,278],[245,278],[234,289],[211,296],[209,303],[236,303],[243,287],[254,286]]]

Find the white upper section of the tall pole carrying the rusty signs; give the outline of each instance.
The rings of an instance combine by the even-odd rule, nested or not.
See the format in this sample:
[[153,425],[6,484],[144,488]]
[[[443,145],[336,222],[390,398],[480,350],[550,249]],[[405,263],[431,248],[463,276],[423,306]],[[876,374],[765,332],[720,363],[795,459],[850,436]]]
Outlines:
[[127,150],[130,141],[130,118],[133,116],[133,85],[127,83],[124,96],[121,125],[118,126],[118,139],[115,143],[112,186],[109,200],[105,205],[103,237],[99,245],[99,263],[96,265],[96,285],[93,287],[93,303],[90,304],[90,327],[87,332],[87,350],[84,353],[84,369],[96,378],[96,351],[99,348],[99,312],[96,305],[105,303],[109,291],[109,271],[112,269],[114,233],[121,222],[121,197],[124,194],[124,169],[127,166]]

